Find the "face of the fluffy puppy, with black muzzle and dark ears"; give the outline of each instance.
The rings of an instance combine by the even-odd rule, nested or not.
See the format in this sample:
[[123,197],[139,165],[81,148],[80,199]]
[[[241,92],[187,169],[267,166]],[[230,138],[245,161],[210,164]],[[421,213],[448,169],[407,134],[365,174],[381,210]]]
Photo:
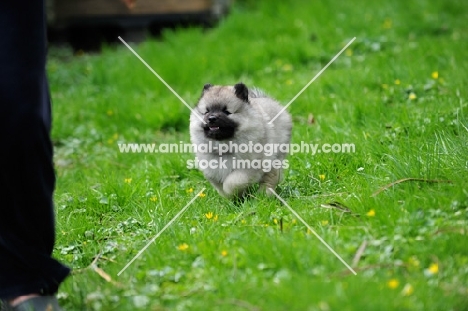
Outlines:
[[197,106],[205,121],[200,122],[205,137],[215,140],[233,138],[248,102],[248,89],[242,83],[234,87],[206,84]]

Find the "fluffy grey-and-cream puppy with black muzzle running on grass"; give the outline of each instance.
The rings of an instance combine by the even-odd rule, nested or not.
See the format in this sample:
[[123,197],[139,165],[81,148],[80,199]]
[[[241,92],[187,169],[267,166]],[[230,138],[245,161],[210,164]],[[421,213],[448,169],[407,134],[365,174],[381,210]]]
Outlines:
[[267,188],[276,188],[282,169],[289,167],[286,149],[278,147],[289,146],[292,120],[283,111],[272,124],[268,122],[282,108],[262,91],[249,90],[243,83],[203,87],[190,116],[194,161],[222,196],[243,198],[254,184],[267,194],[271,194]]

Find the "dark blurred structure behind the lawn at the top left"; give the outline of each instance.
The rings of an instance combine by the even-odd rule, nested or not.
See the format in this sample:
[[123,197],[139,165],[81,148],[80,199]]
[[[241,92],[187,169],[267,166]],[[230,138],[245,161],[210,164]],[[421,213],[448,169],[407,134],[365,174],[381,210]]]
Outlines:
[[164,28],[210,27],[232,0],[48,0],[49,41],[98,51],[103,42],[141,42]]

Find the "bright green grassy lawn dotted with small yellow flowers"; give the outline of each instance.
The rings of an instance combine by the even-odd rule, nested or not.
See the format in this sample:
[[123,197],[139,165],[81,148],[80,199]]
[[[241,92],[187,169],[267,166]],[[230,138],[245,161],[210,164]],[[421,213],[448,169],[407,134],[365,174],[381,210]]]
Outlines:
[[125,46],[52,47],[66,310],[468,310],[468,2],[285,3],[134,48],[190,105],[239,81],[286,104],[356,37],[288,109],[293,143],[355,152],[289,156],[277,191],[357,275],[279,200],[221,198],[194,155],[120,153],[189,142],[190,111]]

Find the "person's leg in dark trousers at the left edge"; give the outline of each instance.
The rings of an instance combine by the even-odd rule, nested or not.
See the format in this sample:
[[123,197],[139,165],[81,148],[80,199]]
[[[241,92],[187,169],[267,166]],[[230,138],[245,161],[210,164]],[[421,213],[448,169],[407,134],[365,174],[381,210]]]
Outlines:
[[52,295],[55,241],[44,3],[0,1],[0,299]]

